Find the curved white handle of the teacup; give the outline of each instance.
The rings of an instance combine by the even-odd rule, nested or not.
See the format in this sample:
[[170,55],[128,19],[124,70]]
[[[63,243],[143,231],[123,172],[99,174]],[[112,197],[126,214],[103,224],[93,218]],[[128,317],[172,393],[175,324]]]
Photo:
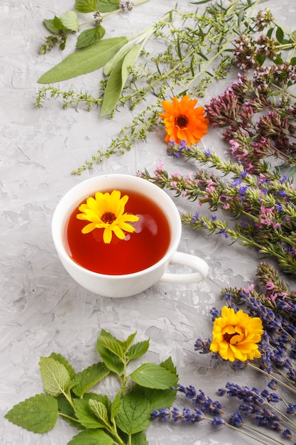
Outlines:
[[160,278],[160,282],[165,283],[198,283],[202,282],[203,279],[207,277],[209,272],[209,266],[207,263],[199,257],[195,257],[194,255],[175,252],[173,254],[172,259],[170,260],[170,264],[184,264],[185,266],[190,267],[194,270],[189,274],[175,274],[170,272],[165,272],[163,277]]

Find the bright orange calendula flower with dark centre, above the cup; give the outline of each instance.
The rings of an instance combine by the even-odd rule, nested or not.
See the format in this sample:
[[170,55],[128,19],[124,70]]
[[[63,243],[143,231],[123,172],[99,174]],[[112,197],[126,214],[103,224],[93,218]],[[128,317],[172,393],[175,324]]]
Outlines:
[[167,135],[166,142],[180,144],[186,141],[188,146],[196,144],[207,134],[209,120],[204,117],[204,107],[195,107],[197,99],[190,99],[188,95],[182,97],[180,102],[177,97],[172,102],[163,100],[165,113],[159,113],[163,117]]

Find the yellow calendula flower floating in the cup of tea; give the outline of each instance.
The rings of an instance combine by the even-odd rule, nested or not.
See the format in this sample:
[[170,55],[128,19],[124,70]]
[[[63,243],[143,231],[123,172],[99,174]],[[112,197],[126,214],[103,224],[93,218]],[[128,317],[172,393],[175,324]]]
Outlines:
[[110,193],[97,192],[94,198],[87,198],[86,204],[78,208],[80,212],[76,215],[79,220],[89,221],[82,229],[82,233],[92,232],[94,229],[104,229],[103,240],[109,244],[112,233],[120,240],[126,237],[125,232],[134,232],[135,227],[129,223],[138,221],[138,216],[124,213],[128,195],[121,198],[121,192],[114,190]]

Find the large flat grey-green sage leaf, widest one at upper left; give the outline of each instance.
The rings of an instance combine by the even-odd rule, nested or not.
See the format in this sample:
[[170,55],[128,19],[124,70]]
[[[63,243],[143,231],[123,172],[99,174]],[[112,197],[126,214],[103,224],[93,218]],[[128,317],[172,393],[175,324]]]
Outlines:
[[108,60],[123,46],[126,37],[104,38],[68,55],[62,62],[48,70],[39,79],[39,83],[55,83],[71,79],[102,68]]

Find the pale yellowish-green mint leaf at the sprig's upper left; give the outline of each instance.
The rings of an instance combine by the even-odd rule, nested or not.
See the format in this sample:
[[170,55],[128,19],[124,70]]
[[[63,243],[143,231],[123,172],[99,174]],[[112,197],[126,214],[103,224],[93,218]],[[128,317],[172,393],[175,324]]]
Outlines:
[[62,363],[54,358],[41,357],[39,367],[45,392],[53,397],[67,392],[70,375]]

